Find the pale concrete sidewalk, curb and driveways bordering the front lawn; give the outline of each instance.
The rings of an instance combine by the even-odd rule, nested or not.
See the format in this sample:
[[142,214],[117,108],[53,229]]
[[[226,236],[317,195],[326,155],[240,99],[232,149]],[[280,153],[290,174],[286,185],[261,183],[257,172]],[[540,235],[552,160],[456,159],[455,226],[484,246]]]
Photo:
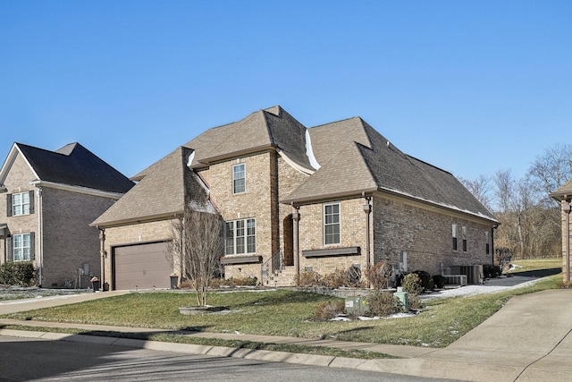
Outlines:
[[[65,299],[46,298],[38,301],[0,304],[0,314],[10,311],[38,309],[62,303],[87,301],[109,297],[111,293],[85,293],[65,296]],[[15,307],[15,305],[19,305]],[[41,305],[41,306],[40,306]],[[1,319],[0,325],[37,327],[79,327],[88,330],[157,333],[132,327],[104,327],[38,321]],[[551,290],[514,297],[499,312],[479,327],[444,349],[363,344],[353,342],[309,340],[266,335],[216,334],[185,332],[181,335],[253,341],[272,344],[304,344],[341,349],[361,349],[383,352],[401,359],[357,360],[332,356],[231,349],[217,346],[166,344],[152,341],[128,340],[88,335],[61,335],[43,332],[0,330],[0,335],[25,335],[46,339],[84,341],[157,350],[192,352],[216,356],[233,356],[265,361],[313,364],[316,366],[365,369],[418,377],[474,380],[474,381],[569,381],[572,380],[572,291]]]

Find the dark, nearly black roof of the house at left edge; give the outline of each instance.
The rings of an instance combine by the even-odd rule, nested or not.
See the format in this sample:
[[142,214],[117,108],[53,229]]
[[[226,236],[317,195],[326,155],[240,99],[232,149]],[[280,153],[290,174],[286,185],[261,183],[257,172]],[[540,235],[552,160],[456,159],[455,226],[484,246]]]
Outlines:
[[133,183],[126,176],[80,143],[71,143],[56,151],[38,149],[22,143],[15,143],[14,146],[38,175],[38,181],[118,193],[127,192],[133,187]]

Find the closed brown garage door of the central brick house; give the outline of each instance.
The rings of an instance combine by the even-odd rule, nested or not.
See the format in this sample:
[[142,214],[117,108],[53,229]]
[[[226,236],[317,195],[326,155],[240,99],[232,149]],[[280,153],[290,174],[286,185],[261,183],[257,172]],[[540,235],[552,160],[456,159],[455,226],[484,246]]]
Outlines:
[[171,287],[166,242],[115,247],[113,253],[114,289]]

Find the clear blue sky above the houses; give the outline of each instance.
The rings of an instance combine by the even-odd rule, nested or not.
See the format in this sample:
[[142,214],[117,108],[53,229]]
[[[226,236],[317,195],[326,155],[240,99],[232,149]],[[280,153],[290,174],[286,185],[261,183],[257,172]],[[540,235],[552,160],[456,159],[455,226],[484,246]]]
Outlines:
[[467,179],[571,143],[572,2],[0,0],[0,161],[79,141],[128,176],[281,105],[359,115]]

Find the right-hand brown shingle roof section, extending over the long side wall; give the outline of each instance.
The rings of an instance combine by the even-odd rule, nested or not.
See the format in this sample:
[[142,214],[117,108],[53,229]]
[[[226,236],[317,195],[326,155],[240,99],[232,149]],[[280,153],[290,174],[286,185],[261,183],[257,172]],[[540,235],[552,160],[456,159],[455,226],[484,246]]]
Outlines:
[[402,153],[361,118],[310,128],[321,168],[281,201],[303,204],[387,191],[495,220],[452,174]]

